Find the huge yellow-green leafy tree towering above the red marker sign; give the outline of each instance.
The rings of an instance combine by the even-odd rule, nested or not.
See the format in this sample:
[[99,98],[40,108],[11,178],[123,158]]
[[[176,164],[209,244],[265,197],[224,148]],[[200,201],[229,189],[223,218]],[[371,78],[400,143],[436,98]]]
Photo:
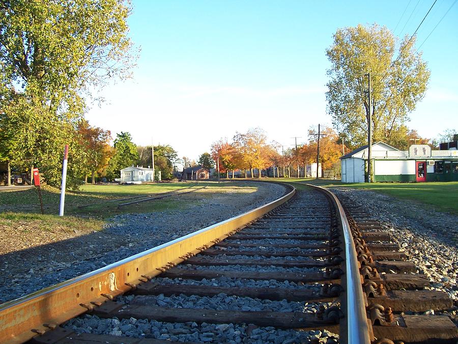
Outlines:
[[90,90],[128,77],[134,61],[130,5],[14,0],[0,9],[0,156],[19,168],[38,166],[58,186],[63,147],[70,144],[67,186],[76,188],[76,164],[85,159],[77,123]]

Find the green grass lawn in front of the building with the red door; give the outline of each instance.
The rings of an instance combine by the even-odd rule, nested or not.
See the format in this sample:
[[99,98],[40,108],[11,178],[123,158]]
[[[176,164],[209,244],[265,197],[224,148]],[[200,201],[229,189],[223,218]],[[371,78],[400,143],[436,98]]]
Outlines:
[[458,215],[458,181],[421,183],[342,183],[332,179],[276,178],[300,181],[325,188],[351,188],[379,192],[399,199],[432,206],[437,211]]

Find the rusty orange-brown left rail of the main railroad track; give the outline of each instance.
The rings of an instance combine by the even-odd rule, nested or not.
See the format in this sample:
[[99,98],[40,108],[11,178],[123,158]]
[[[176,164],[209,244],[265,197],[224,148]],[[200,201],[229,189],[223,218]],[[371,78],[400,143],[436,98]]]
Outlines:
[[135,254],[93,272],[0,305],[0,342],[20,343],[112,300],[291,199],[296,189],[244,214]]

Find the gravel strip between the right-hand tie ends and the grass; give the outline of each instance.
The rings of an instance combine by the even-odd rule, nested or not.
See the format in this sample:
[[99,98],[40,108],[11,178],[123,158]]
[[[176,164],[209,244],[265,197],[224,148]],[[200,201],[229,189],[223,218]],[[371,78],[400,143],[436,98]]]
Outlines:
[[[417,272],[430,278],[431,290],[447,293],[454,301],[444,312],[458,326],[458,216],[434,211],[372,191],[330,189],[345,204],[358,205],[389,230],[392,241],[410,255]],[[430,314],[433,310],[428,311]]]

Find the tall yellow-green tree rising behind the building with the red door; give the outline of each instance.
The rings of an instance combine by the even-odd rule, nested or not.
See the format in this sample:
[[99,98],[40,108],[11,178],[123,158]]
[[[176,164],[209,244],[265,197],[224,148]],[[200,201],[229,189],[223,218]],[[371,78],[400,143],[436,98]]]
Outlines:
[[[352,146],[367,144],[369,104],[367,74],[373,98],[375,141],[391,144],[396,132],[405,134],[408,114],[426,91],[430,71],[415,48],[415,37],[406,36],[395,49],[396,38],[373,24],[339,29],[326,55],[332,66],[326,99],[334,128]],[[399,135],[398,135],[399,136]]]

